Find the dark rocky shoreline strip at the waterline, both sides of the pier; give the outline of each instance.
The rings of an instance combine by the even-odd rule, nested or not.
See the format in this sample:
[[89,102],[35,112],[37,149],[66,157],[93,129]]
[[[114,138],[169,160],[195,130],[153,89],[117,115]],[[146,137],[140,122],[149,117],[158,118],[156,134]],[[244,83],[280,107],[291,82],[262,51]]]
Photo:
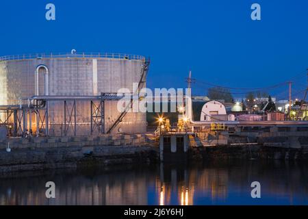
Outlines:
[[[294,149],[281,146],[224,145],[192,147],[185,162],[228,162],[229,160],[308,160],[308,148]],[[168,164],[168,162],[165,162]],[[53,169],[106,168],[108,166],[159,164],[159,150],[156,144],[120,145],[120,146],[49,146],[23,147],[0,151],[0,175],[10,172]]]

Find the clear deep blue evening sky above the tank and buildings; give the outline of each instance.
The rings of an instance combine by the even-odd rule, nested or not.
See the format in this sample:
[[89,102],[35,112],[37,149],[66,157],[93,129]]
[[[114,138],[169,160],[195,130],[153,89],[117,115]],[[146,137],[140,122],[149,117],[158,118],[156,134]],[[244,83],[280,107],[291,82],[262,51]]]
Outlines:
[[[55,21],[45,19],[47,3],[55,4]],[[261,21],[251,20],[253,3],[261,5]],[[0,55],[146,55],[150,88],[185,88],[189,70],[198,81],[235,88],[271,86],[299,73],[294,88],[306,84],[305,0],[2,1],[0,21]],[[206,94],[208,87],[192,88]]]

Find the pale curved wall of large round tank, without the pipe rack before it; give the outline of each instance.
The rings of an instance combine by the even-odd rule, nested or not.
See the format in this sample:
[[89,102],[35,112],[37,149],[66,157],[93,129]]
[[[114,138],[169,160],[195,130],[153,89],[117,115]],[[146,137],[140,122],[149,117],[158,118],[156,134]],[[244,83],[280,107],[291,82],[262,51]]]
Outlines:
[[[115,53],[59,53],[36,55],[11,55],[0,57],[0,105],[27,104],[31,96],[98,96],[101,93],[118,92],[121,88],[133,91],[133,83],[146,78],[141,55]],[[149,64],[149,63],[148,63]],[[73,103],[66,103],[67,113]],[[106,133],[120,116],[116,101],[104,102],[104,130]],[[90,133],[91,107],[88,102],[77,102],[76,131],[78,135]],[[64,103],[49,104],[50,136],[72,135],[64,126]],[[72,113],[73,115],[73,113]],[[27,116],[27,127],[35,129],[35,116]],[[66,116],[67,117],[67,116]],[[67,118],[66,118],[67,119]],[[29,125],[31,123],[31,125]],[[45,124],[46,125],[46,124]],[[68,126],[70,123],[68,122]],[[75,124],[71,124],[75,125]],[[66,125],[67,127],[67,125]],[[64,130],[65,129],[65,130]],[[31,130],[33,131],[33,130]],[[35,130],[34,130],[35,131]],[[129,112],[112,129],[112,133],[142,133],[146,131],[146,114]],[[76,134],[76,133],[75,133]]]

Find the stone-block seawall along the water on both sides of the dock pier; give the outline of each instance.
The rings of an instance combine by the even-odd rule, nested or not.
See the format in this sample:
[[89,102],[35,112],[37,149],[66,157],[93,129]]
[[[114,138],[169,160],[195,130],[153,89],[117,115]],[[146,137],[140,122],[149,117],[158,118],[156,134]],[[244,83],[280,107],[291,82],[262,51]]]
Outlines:
[[[305,138],[296,147],[282,137],[264,138],[263,143],[191,146],[188,162],[229,159],[308,160]],[[302,144],[303,143],[303,144]],[[10,144],[10,152],[7,146]],[[59,138],[11,138],[0,142],[0,174],[21,170],[82,168],[159,162],[158,142],[146,135],[84,136]],[[179,160],[183,162],[183,160]]]

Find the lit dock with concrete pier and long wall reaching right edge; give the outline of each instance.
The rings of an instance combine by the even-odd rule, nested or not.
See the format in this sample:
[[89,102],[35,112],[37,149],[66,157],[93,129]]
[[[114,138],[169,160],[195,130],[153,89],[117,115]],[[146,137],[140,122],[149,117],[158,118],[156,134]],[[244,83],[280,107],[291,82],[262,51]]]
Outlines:
[[[164,125],[162,126],[164,127]],[[161,162],[185,162],[193,148],[213,146],[278,146],[308,148],[306,121],[236,121],[233,123],[189,123],[183,127],[158,127]]]

